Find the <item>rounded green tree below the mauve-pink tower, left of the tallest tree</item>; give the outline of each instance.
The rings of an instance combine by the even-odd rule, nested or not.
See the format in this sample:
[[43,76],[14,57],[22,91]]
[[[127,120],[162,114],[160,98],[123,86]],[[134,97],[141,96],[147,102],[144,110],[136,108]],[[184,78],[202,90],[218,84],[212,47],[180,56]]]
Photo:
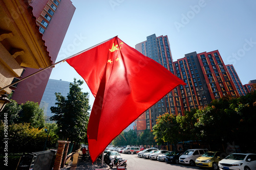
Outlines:
[[42,110],[38,103],[27,101],[22,104],[22,111],[19,114],[19,123],[30,123],[31,127],[34,128],[44,128],[45,117],[44,110]]

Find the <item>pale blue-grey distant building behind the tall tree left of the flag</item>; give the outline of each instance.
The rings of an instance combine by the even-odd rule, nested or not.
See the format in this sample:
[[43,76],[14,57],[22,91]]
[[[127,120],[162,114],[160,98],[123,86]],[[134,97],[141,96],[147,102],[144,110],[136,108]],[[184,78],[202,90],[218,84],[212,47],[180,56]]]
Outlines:
[[44,115],[46,117],[46,122],[50,120],[50,117],[53,115],[51,112],[51,107],[56,106],[56,96],[55,92],[60,93],[62,96],[67,96],[70,89],[70,83],[67,81],[60,80],[53,80],[49,79],[44,95],[42,95],[42,100],[40,102],[40,107],[44,109]]

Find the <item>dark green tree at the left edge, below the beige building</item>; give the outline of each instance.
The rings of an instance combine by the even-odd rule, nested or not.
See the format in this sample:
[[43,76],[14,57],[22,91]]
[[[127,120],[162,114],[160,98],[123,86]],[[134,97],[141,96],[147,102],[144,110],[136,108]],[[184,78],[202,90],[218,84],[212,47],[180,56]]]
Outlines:
[[19,112],[22,111],[22,106],[18,105],[16,101],[10,100],[2,112],[0,112],[1,119],[4,119],[4,113],[8,113],[8,125],[18,122]]

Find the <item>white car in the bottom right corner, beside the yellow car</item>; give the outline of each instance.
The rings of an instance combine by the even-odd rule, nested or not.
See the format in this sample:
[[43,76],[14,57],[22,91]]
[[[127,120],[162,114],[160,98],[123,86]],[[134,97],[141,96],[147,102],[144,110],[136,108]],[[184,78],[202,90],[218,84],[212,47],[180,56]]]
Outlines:
[[256,154],[230,154],[226,158],[219,161],[220,169],[256,169]]

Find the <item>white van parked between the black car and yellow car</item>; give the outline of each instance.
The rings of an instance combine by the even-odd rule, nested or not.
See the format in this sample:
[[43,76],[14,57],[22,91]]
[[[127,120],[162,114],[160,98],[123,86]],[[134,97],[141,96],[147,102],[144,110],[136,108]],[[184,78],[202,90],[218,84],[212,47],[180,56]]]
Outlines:
[[191,150],[186,150],[180,158],[179,162],[180,163],[186,163],[191,166],[195,166],[195,161],[198,157],[202,156],[205,152],[208,152],[207,149],[191,149]]

